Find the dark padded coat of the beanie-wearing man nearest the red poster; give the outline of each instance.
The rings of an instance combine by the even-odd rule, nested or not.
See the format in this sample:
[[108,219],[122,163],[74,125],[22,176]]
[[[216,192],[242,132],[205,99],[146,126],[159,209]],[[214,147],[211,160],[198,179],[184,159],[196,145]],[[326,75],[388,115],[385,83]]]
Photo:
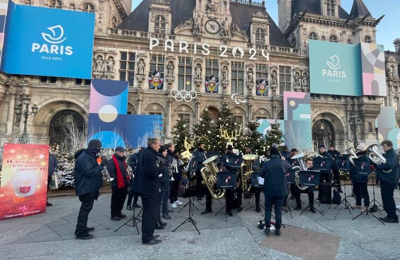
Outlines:
[[96,155],[90,154],[86,149],[79,151],[76,156],[74,168],[76,195],[99,191],[103,186],[101,174],[103,165],[99,165],[96,161]]

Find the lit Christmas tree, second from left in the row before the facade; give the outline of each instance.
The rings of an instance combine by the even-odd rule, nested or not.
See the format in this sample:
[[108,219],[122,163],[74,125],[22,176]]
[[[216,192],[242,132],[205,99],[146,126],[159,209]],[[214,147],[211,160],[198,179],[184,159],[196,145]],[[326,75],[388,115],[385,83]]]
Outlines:
[[193,133],[196,135],[195,144],[203,142],[205,144],[205,150],[207,151],[212,150],[210,146],[210,136],[215,135],[215,133],[212,132],[213,124],[214,122],[212,122],[211,113],[208,108],[205,108],[200,115],[200,120],[193,126]]

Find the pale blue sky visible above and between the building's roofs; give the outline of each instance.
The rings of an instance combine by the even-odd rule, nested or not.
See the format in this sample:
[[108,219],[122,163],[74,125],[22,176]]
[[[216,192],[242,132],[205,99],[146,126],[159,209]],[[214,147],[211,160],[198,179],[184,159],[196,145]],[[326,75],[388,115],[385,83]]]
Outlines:
[[[132,10],[135,9],[141,1],[142,0],[132,0]],[[265,6],[272,19],[278,24],[278,4],[276,2],[276,0],[266,0]],[[395,47],[393,41],[400,38],[398,22],[400,13],[399,0],[364,0],[364,3],[375,19],[385,15],[376,28],[376,43],[382,44],[385,50],[394,51]],[[350,13],[353,0],[342,0],[341,4],[342,7]]]

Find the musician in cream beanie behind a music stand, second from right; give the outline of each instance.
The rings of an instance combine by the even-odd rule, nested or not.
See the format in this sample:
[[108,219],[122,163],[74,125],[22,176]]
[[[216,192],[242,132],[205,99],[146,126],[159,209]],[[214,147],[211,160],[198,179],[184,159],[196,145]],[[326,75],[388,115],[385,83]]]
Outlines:
[[[365,144],[364,143],[359,143],[357,145],[356,149],[356,155],[358,156],[358,159],[354,159],[354,163],[356,164],[362,164],[363,162],[368,163],[369,165],[369,160],[368,157],[366,156],[365,152]],[[370,195],[368,194],[368,174],[360,174],[358,168],[356,165],[351,165],[350,166],[350,179],[353,184],[353,193],[355,195],[355,205],[353,206],[354,209],[361,209],[361,198],[364,198],[364,207],[369,207],[370,206]]]

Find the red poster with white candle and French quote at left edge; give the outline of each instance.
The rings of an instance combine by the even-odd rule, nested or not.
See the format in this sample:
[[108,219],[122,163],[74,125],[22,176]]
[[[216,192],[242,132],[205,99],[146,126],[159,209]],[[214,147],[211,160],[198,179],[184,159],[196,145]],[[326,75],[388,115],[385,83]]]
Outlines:
[[48,145],[4,145],[0,220],[46,212],[48,164]]

